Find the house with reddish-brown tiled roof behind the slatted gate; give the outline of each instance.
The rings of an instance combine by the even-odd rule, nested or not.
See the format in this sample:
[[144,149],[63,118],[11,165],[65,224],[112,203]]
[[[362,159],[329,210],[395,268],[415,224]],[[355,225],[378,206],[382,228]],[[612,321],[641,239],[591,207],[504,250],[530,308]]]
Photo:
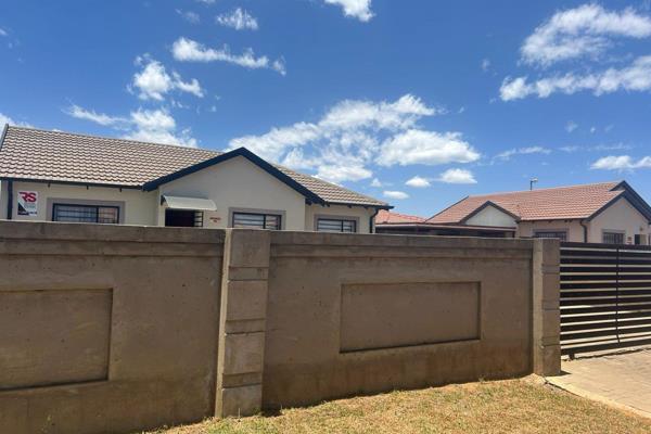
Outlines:
[[625,181],[468,196],[425,220],[612,244],[649,244],[650,222],[651,207]]

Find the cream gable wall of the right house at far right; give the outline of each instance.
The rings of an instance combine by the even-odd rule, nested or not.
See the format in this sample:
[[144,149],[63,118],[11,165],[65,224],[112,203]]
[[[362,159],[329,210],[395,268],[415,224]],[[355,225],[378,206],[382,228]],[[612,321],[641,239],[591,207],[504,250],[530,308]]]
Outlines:
[[589,241],[601,243],[603,231],[625,232],[624,240],[633,244],[636,234],[649,234],[649,221],[630,203],[622,197],[590,222]]

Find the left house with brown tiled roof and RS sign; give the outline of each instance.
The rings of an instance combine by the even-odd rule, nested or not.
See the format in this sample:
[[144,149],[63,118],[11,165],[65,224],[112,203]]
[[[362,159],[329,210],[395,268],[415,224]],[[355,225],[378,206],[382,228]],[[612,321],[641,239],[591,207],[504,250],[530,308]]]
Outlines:
[[373,232],[382,201],[216,152],[5,126],[2,218],[144,226]]

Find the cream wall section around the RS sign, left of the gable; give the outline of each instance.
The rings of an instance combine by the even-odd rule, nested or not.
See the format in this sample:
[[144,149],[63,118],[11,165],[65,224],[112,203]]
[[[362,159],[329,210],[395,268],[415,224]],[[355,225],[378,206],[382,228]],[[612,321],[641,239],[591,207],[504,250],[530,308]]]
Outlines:
[[[7,187],[3,187],[5,191]],[[17,193],[18,191],[38,192],[38,214],[36,216],[18,216],[17,214]],[[85,201],[110,201],[124,202],[124,224],[125,225],[145,225],[156,224],[155,192],[143,192],[136,189],[123,189],[110,187],[82,187],[67,184],[47,184],[43,182],[14,182],[13,183],[13,218],[16,220],[47,220],[48,219],[48,199],[61,200],[68,204],[84,203]],[[4,207],[3,209],[7,209]],[[2,215],[4,218],[7,213]]]

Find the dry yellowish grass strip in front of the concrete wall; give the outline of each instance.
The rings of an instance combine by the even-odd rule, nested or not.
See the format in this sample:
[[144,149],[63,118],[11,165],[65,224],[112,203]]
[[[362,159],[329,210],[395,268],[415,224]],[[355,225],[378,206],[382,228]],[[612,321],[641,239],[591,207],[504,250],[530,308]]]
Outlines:
[[651,433],[651,420],[531,376],[340,399],[273,417],[210,419],[156,433]]

